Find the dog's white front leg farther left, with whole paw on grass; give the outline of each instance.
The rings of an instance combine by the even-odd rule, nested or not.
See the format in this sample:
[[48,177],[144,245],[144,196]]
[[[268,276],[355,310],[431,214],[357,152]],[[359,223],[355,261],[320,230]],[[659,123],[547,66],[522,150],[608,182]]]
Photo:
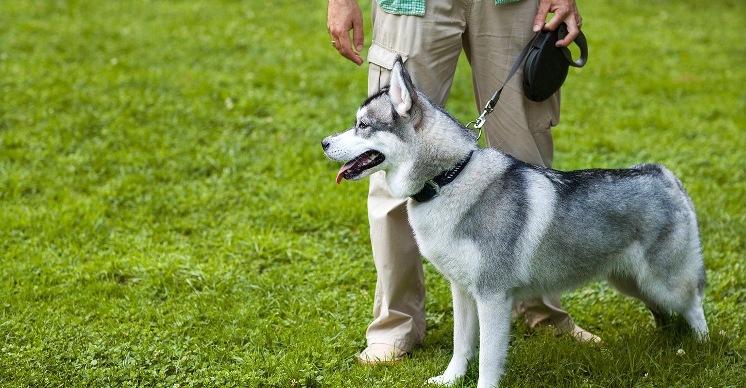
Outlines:
[[454,356],[442,375],[427,381],[432,384],[454,384],[458,378],[466,374],[466,366],[474,358],[477,348],[477,303],[454,282],[451,282],[451,295],[454,297]]

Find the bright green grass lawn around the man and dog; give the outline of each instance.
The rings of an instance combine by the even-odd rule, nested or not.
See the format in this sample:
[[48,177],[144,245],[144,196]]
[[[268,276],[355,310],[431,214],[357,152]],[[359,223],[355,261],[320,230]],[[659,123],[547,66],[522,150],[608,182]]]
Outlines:
[[[562,300],[606,346],[516,322],[504,387],[746,387],[746,7],[696,3],[580,4],[591,57],[565,83],[554,167],[680,176],[712,338],[661,332],[589,284]],[[389,369],[355,363],[375,284],[367,185],[334,185],[319,141],[353,120],[366,69],[329,40],[318,1],[0,3],[2,387],[419,387],[442,372],[450,293],[428,264],[424,345]],[[448,109],[466,122],[461,62]]]

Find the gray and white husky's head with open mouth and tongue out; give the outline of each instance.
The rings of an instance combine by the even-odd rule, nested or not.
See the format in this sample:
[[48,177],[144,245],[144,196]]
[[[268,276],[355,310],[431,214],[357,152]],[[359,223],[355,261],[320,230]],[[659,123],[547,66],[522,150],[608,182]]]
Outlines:
[[416,158],[416,124],[421,120],[418,95],[400,56],[396,57],[389,86],[370,96],[357,109],[355,124],[322,141],[326,155],[346,162],[336,176],[363,179],[376,171],[389,171]]

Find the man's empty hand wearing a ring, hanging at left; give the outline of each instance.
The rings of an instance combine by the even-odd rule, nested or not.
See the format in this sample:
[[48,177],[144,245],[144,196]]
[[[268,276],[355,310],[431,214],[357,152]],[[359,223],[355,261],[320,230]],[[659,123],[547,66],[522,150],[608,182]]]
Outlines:
[[[329,0],[327,28],[336,51],[357,66],[362,65],[363,58],[355,52],[363,51],[363,11],[357,5],[357,0]],[[354,50],[350,42],[350,30]]]

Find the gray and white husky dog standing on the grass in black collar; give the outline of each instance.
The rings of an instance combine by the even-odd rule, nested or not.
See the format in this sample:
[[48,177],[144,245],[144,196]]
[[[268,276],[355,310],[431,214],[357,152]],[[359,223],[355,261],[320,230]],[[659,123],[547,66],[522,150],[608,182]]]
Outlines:
[[[695,209],[662,165],[563,172],[480,148],[473,131],[415,89],[401,57],[390,85],[322,147],[347,162],[338,183],[386,171],[395,197],[419,199],[407,203],[410,224],[454,299],[454,355],[431,383],[463,376],[478,339],[477,387],[497,386],[513,299],[598,278],[642,300],[656,320],[677,311],[700,339],[707,334]],[[444,176],[452,181],[439,187],[433,178]]]

